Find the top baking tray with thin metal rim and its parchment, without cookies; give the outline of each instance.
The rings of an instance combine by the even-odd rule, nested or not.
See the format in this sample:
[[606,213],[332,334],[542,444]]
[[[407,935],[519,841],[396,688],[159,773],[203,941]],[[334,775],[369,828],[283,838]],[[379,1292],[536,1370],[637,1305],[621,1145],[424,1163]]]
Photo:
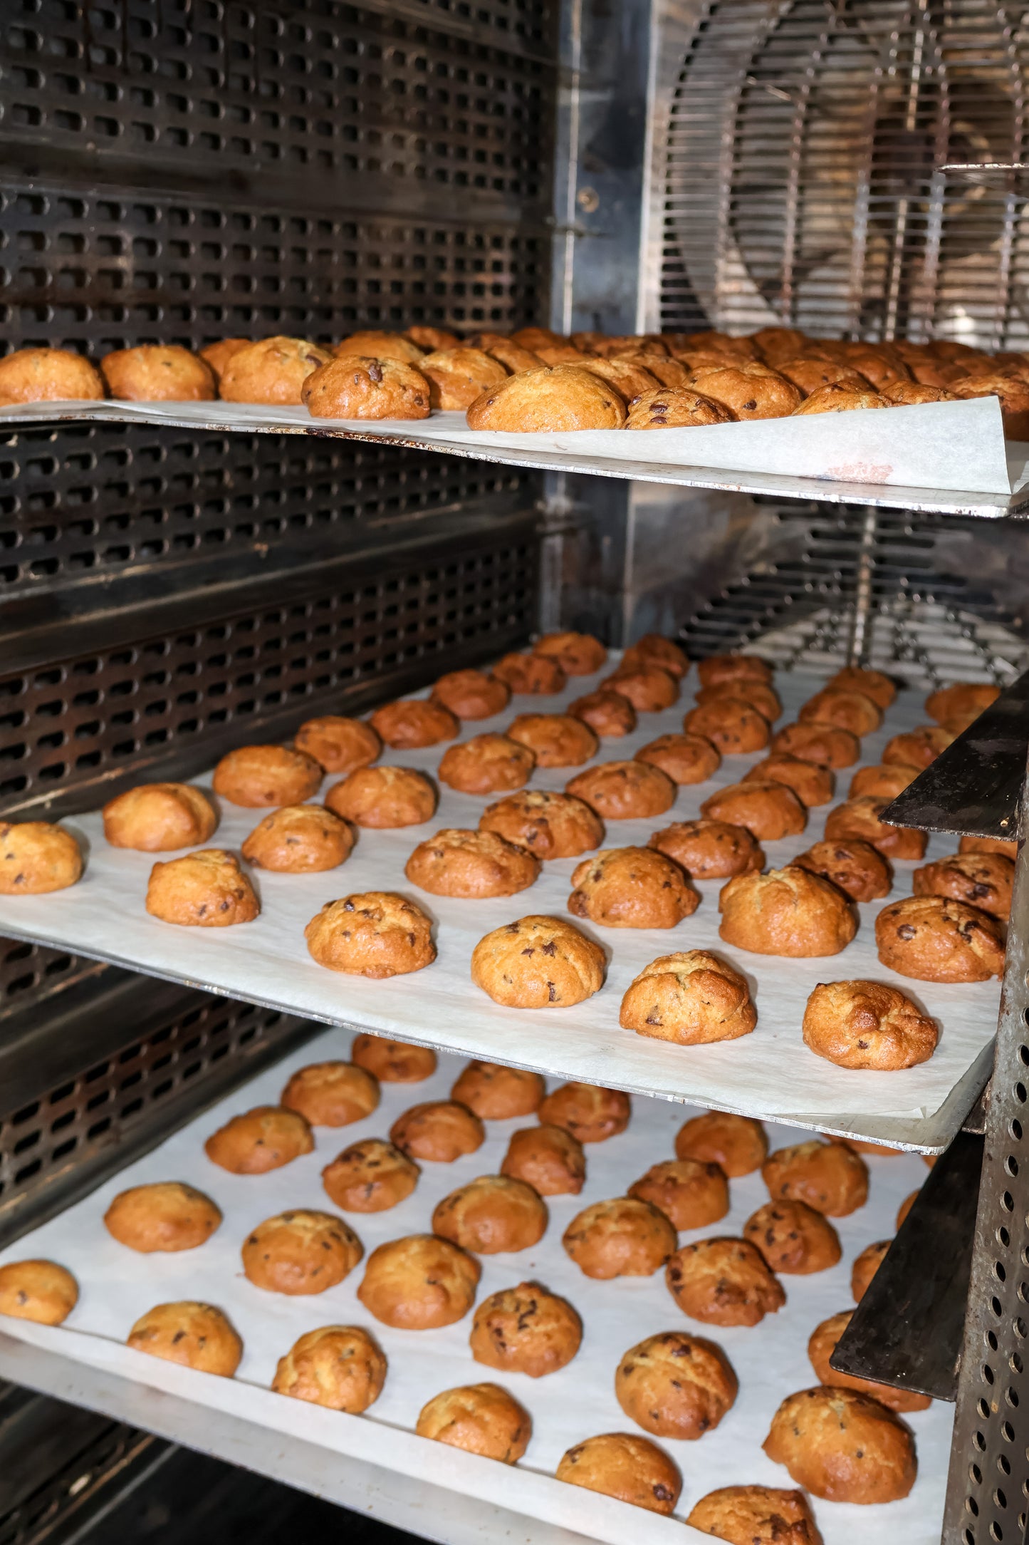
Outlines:
[[413,423],[359,423],[312,419],[305,408],[224,402],[28,403],[0,409],[0,426],[63,419],[390,440],[509,467],[927,514],[998,519],[1029,508],[1029,445],[1004,442],[994,397],[648,434],[582,430],[560,436],[472,431],[460,413],[434,413]]

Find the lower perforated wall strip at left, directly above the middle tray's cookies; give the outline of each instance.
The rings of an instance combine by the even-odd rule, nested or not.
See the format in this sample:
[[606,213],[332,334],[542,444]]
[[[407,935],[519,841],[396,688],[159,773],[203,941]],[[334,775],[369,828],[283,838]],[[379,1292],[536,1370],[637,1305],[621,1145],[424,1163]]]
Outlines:
[[293,722],[390,674],[429,678],[531,632],[538,542],[494,541],[309,599],[0,677],[0,808],[110,785],[176,752],[196,768],[253,725]]

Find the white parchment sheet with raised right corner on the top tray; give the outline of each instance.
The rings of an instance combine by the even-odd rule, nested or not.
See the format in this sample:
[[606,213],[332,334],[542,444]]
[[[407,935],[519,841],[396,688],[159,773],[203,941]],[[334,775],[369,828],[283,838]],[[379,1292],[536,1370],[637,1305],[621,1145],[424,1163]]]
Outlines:
[[722,423],[694,430],[633,433],[579,430],[571,434],[503,434],[469,430],[463,413],[429,419],[312,419],[307,408],[248,403],[32,403],[0,411],[0,423],[66,416],[137,422],[196,423],[230,430],[352,430],[373,439],[458,448],[543,451],[575,457],[649,462],[653,467],[722,468],[830,482],[881,484],[1010,494],[1012,476],[997,397],[970,402],[832,413],[801,419]]

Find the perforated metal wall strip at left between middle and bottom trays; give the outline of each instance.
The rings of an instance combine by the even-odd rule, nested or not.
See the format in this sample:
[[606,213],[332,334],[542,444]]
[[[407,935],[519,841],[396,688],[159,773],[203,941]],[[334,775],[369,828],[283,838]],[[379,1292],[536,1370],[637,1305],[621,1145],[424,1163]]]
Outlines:
[[196,1111],[222,1068],[295,1035],[299,1024],[250,1003],[185,993],[139,1040],[127,1035],[117,1052],[0,1114],[0,1221],[28,1211],[73,1170],[88,1177],[103,1151],[139,1136],[156,1140],[167,1109],[187,1100]]

